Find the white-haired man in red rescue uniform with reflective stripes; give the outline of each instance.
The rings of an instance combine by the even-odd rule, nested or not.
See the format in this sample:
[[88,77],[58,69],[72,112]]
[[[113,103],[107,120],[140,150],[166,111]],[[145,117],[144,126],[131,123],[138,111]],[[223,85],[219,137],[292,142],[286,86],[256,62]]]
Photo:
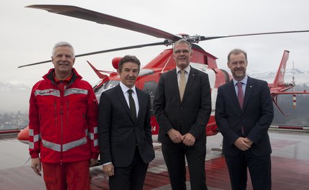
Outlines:
[[42,164],[47,189],[89,189],[89,166],[98,159],[98,102],[74,62],[71,44],[55,44],[54,68],[30,96],[31,167],[41,176]]

